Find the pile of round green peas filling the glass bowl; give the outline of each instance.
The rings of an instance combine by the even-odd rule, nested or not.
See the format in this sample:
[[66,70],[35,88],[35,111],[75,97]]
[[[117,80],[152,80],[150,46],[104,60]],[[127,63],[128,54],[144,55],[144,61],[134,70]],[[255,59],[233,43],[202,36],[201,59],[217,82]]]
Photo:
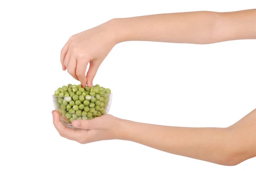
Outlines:
[[81,87],[68,84],[54,92],[55,107],[68,123],[76,119],[93,119],[106,114],[111,90],[96,84]]

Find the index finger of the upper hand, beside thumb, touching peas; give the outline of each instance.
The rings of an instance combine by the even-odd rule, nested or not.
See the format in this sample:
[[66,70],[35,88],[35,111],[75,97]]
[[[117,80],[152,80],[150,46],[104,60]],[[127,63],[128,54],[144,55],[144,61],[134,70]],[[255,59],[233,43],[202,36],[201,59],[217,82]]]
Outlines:
[[86,72],[86,68],[88,65],[88,61],[86,60],[79,60],[77,62],[77,66],[76,66],[76,76],[79,79],[79,81],[81,82],[81,87],[85,87],[86,86],[86,76],[85,76],[85,72]]

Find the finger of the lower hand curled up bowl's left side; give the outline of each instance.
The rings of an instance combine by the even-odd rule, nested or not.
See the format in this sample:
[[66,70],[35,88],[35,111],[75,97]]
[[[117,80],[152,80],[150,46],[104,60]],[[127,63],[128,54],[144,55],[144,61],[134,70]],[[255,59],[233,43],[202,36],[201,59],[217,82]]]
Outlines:
[[75,140],[76,137],[74,137],[74,135],[76,134],[76,131],[71,128],[67,128],[61,122],[59,113],[57,111],[52,111],[52,116],[53,116],[53,125],[58,131],[58,133],[60,134],[60,136],[67,139]]

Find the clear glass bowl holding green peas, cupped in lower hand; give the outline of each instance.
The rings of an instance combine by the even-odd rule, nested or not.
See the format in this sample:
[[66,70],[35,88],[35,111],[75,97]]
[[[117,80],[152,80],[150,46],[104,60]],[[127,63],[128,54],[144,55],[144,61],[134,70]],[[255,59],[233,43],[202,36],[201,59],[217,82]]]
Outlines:
[[61,122],[68,128],[77,129],[72,126],[76,119],[94,119],[104,114],[108,114],[112,93],[96,96],[54,96],[53,105],[60,115]]

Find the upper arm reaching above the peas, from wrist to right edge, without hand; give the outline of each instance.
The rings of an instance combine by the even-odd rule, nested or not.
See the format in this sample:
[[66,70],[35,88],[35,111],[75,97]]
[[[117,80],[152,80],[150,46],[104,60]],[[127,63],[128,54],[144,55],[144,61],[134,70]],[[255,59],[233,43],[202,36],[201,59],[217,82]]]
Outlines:
[[256,10],[183,12],[113,20],[117,42],[207,44],[256,38]]

